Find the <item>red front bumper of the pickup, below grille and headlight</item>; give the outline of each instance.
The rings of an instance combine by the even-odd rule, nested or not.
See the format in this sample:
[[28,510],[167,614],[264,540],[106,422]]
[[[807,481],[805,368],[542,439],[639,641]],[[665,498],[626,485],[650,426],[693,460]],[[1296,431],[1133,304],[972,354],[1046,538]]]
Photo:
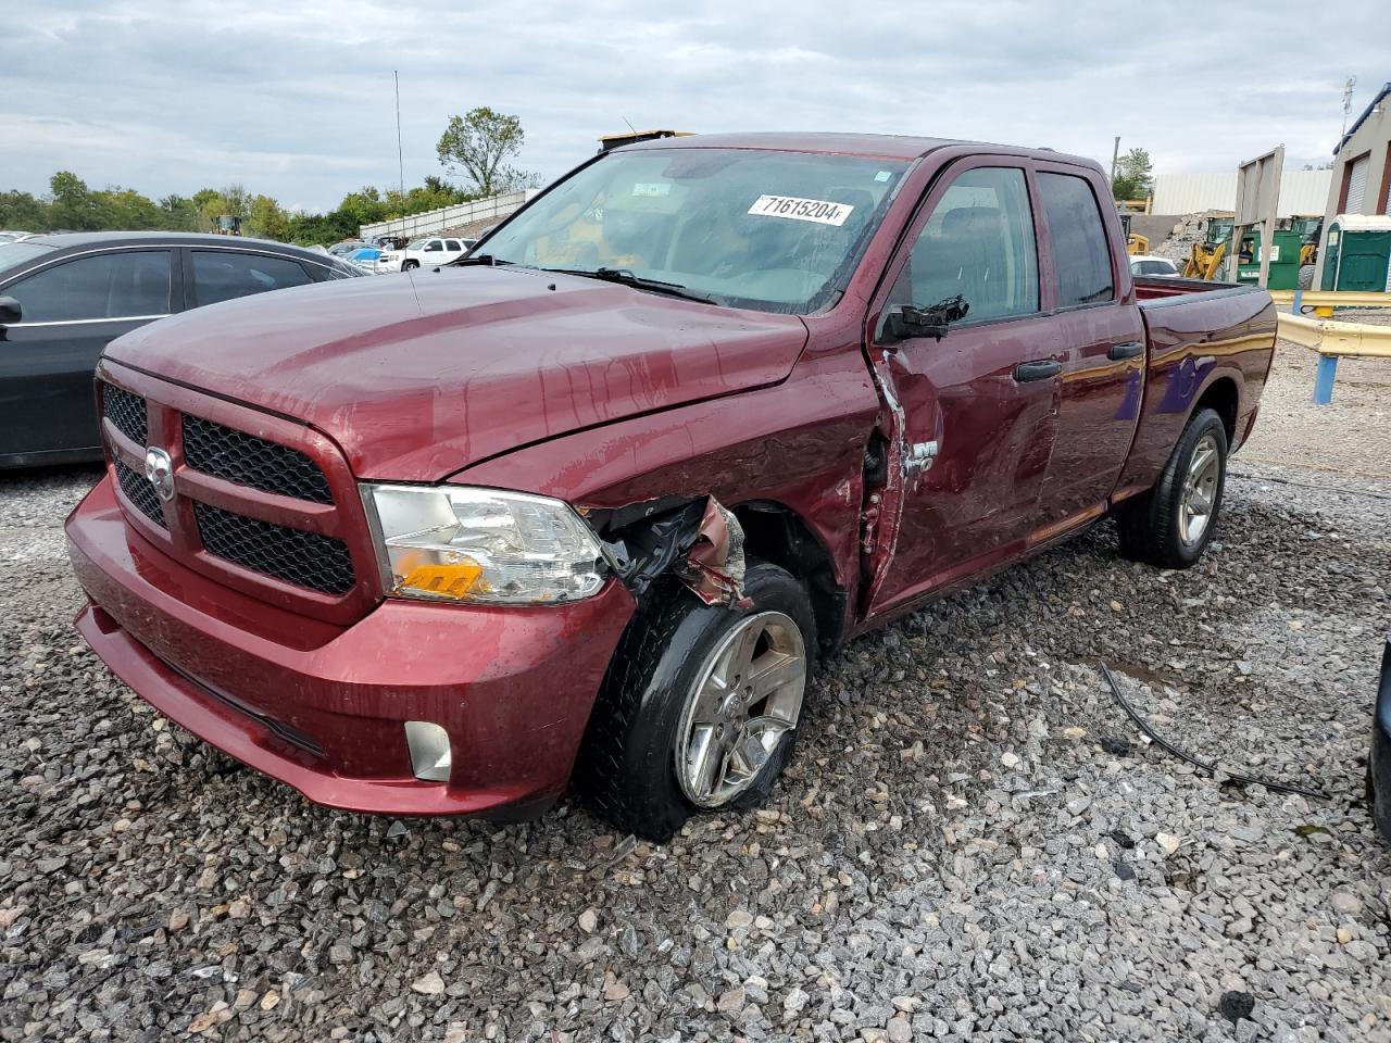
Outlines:
[[[218,750],[356,812],[548,807],[634,608],[611,581],[538,608],[387,599],[335,627],[184,567],[125,524],[110,478],[67,534],[92,602],[77,626],[113,673]],[[415,776],[408,720],[448,731],[448,782]]]

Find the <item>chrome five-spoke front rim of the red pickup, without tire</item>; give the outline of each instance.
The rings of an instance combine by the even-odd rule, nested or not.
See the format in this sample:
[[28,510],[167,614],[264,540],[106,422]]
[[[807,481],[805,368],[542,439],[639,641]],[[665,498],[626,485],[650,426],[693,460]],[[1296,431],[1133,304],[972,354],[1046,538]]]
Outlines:
[[782,612],[758,612],[711,652],[676,731],[676,779],[701,808],[734,800],[797,727],[807,645]]

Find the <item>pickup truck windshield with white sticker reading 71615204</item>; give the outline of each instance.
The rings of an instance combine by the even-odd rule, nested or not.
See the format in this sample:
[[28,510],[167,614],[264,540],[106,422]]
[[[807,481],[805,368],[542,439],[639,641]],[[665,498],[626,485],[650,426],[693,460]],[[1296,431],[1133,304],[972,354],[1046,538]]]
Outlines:
[[804,314],[844,289],[906,168],[753,149],[615,152],[531,203],[481,253]]

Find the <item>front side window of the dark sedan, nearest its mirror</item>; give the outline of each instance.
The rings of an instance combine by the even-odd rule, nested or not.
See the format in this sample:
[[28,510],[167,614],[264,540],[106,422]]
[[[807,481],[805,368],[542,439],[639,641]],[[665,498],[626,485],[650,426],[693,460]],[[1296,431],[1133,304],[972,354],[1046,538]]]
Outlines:
[[170,252],[122,250],[61,261],[6,289],[25,323],[138,318],[170,312]]

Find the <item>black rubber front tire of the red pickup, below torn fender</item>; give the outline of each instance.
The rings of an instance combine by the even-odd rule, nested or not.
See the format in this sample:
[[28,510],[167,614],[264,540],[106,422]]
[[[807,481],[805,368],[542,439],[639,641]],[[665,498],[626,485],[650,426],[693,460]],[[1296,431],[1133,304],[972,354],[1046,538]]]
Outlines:
[[[648,608],[633,619],[619,641],[594,704],[573,779],[586,802],[618,829],[664,843],[696,811],[757,808],[768,798],[791,757],[812,669],[811,656],[817,648],[811,601],[805,588],[787,572],[766,563],[751,565],[744,577],[744,592],[753,601],[748,609],[704,605],[672,580],[661,591],[652,591]],[[766,759],[740,783],[741,791],[723,798],[721,793],[711,791],[705,800],[697,800],[690,791],[693,783],[689,776],[683,779],[677,773],[677,763],[684,763],[679,761],[677,747],[683,755],[696,747],[691,741],[680,743],[680,738],[683,734],[698,734],[687,729],[696,726],[697,711],[709,705],[708,698],[697,697],[707,674],[715,669],[712,665],[727,662],[721,656],[737,647],[740,637],[747,638],[759,629],[766,630],[754,645],[764,651],[751,659],[754,668],[759,662],[779,662],[765,658],[776,651],[769,636],[776,636],[785,647],[794,644],[793,637],[800,640],[804,672],[797,709],[791,713],[790,727],[776,734],[772,730],[764,733],[764,741],[771,748],[762,751],[755,747],[755,752]],[[750,673],[750,679],[753,676]],[[733,679],[737,681],[739,674]],[[726,702],[736,698],[741,688],[736,683],[733,690]],[[790,691],[791,683],[787,683],[776,698],[790,700]],[[769,695],[766,702],[753,704],[748,708],[753,720],[747,723],[769,720],[766,715],[773,698]],[[721,759],[723,766],[716,769],[721,780],[726,772],[736,773],[736,757],[737,752],[730,752]]]

